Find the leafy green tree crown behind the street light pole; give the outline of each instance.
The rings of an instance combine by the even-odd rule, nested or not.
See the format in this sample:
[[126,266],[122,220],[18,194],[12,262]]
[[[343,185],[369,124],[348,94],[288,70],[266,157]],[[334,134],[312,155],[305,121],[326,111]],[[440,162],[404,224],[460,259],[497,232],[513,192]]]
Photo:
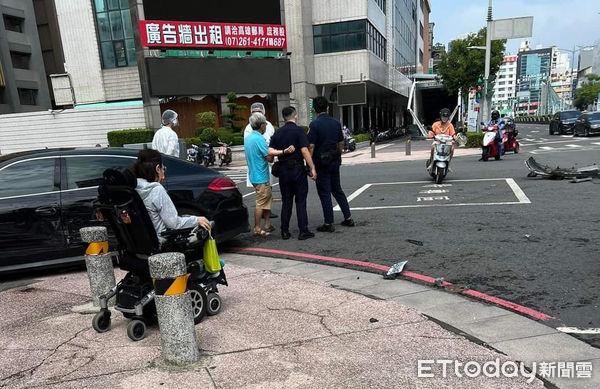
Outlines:
[[[463,97],[466,97],[469,88],[475,86],[477,79],[485,74],[485,50],[467,49],[469,46],[485,46],[485,32],[486,28],[482,28],[477,34],[471,33],[463,39],[452,41],[448,53],[442,55],[437,73],[449,93],[456,93],[461,89]],[[491,94],[496,73],[502,65],[505,45],[506,39],[492,41],[488,95]]]

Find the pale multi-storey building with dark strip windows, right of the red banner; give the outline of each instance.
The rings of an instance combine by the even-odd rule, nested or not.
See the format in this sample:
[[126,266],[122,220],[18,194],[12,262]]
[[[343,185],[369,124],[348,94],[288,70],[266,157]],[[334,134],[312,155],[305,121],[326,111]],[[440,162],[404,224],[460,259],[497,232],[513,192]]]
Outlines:
[[[418,66],[418,11],[415,0],[285,1],[290,98],[299,120],[308,123],[311,99],[324,95],[330,113],[354,130],[405,124],[411,83],[406,74]],[[363,101],[348,102],[338,88],[361,83]]]

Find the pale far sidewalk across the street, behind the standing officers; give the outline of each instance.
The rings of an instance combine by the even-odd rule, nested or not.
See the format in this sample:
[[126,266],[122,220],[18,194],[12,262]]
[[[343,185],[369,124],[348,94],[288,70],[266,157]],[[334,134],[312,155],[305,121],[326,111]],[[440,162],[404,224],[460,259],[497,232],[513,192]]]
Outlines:
[[[431,140],[418,139],[411,141],[411,155],[406,155],[406,139],[399,138],[386,143],[375,145],[375,158],[371,158],[371,146],[368,142],[359,144],[355,151],[342,154],[342,165],[358,165],[377,162],[402,162],[429,159],[431,153]],[[455,157],[478,155],[479,148],[457,147],[454,151]],[[243,151],[234,156],[229,168],[246,167]]]

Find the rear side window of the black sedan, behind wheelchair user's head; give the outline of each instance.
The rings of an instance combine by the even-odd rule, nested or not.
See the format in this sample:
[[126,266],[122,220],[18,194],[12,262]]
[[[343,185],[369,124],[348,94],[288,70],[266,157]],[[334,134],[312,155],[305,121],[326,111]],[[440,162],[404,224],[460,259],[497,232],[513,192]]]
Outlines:
[[65,158],[67,161],[67,189],[98,186],[106,169],[122,169],[135,159],[107,156]]

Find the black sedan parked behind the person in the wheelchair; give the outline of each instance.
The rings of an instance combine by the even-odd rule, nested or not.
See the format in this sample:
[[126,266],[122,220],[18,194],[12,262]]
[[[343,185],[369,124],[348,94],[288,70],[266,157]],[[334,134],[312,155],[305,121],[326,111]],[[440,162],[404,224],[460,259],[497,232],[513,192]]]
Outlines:
[[[80,261],[86,244],[79,229],[100,224],[92,201],[102,172],[128,167],[136,157],[137,150],[116,148],[0,156],[0,272]],[[248,209],[233,181],[173,157],[163,156],[163,163],[163,185],[180,214],[214,220],[218,241],[249,231]]]

